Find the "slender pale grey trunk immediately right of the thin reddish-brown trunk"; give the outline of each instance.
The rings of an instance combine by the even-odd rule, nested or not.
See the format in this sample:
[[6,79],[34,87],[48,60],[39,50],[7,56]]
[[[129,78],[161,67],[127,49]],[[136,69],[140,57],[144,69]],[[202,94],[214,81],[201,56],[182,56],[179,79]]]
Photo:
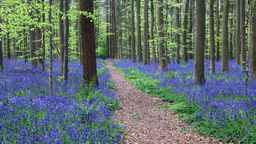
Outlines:
[[53,74],[52,74],[52,64],[53,64],[53,54],[52,54],[52,0],[48,0],[48,5],[50,6],[48,13],[48,22],[49,22],[49,88],[52,89],[53,86]]

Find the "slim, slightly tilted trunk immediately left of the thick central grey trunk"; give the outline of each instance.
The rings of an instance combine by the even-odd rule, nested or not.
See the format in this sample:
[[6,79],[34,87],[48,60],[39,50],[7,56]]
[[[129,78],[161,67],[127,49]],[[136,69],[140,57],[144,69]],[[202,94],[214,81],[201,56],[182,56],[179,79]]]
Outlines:
[[152,47],[152,61],[153,66],[156,66],[156,56],[155,56],[155,40],[154,40],[154,0],[150,0],[150,12],[151,12],[151,24],[150,24],[150,37],[151,37],[151,47]]

